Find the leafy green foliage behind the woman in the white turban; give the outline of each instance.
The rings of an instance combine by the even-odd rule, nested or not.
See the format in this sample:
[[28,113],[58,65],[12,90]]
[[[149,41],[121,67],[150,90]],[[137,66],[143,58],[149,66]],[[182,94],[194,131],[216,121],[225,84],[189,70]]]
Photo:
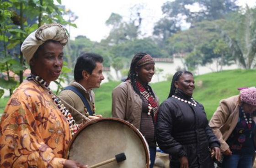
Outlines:
[[[60,3],[60,0],[57,0]],[[64,11],[53,0],[6,0],[0,1],[0,72],[7,74],[0,77],[0,85],[9,89],[10,95],[16,88],[17,82],[12,78],[19,75],[20,83],[23,72],[27,68],[20,51],[25,37],[43,23],[59,22],[70,24],[62,17]]]

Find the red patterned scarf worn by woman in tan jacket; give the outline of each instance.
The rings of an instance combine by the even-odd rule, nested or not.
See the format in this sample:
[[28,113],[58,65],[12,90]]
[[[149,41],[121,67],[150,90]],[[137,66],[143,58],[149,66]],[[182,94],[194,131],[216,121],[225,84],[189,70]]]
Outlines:
[[[131,83],[131,80],[128,80],[129,83]],[[139,89],[140,94],[149,102],[149,112],[148,114],[151,115],[153,113],[154,121],[156,122],[157,119],[157,112],[158,112],[158,105],[155,101],[155,97],[151,94],[150,91],[144,88],[142,84],[139,83],[139,81],[136,81],[136,86]],[[149,86],[150,87],[150,86]]]

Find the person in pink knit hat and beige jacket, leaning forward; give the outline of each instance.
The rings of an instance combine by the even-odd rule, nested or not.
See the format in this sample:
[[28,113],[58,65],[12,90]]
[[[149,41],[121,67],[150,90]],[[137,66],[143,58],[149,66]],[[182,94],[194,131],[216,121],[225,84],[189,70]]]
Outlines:
[[256,88],[221,100],[209,126],[219,138],[222,168],[252,168],[256,150]]

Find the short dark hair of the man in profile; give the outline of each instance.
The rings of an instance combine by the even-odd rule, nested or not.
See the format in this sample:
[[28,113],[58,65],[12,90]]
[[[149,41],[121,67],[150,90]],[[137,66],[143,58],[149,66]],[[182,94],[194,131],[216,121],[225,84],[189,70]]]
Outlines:
[[74,69],[75,81],[79,82],[83,79],[82,72],[85,70],[91,74],[96,67],[96,63],[103,63],[103,58],[96,53],[83,53],[77,58]]

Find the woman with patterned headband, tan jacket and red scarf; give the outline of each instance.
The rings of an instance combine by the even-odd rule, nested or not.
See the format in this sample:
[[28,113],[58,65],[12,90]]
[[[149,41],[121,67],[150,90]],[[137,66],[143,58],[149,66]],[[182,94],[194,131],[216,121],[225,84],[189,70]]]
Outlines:
[[159,100],[149,86],[155,73],[155,62],[146,53],[133,57],[128,78],[112,92],[112,116],[133,124],[149,144],[150,168],[155,162],[155,121]]

